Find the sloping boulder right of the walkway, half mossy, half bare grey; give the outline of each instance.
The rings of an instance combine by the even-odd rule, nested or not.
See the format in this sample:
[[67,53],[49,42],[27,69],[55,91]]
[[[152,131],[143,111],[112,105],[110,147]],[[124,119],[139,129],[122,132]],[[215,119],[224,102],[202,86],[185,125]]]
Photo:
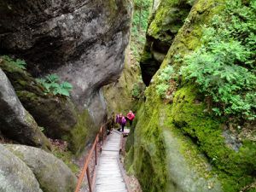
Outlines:
[[126,170],[137,175],[143,191],[223,191],[206,156],[170,123],[172,106],[154,96],[137,113]]

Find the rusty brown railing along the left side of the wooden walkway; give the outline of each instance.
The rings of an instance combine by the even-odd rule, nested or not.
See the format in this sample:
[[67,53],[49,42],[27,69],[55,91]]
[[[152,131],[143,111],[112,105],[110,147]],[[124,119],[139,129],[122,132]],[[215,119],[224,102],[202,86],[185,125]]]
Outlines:
[[[84,180],[85,172],[86,172],[86,176],[87,176],[87,180],[88,180],[89,191],[92,192],[92,190],[93,190],[95,179],[96,179],[96,171],[93,173],[93,177],[90,180],[89,163],[90,163],[90,160],[93,157],[93,153],[95,153],[95,164],[94,164],[94,166],[97,165],[97,143],[100,141],[100,137],[102,137],[102,145],[103,145],[104,139],[105,139],[105,125],[102,125],[100,131],[97,133],[96,139],[95,139],[92,147],[90,148],[90,152],[84,160],[84,167],[83,167],[82,172],[79,175],[79,181],[78,181],[75,192],[80,191],[82,182]],[[102,150],[102,148],[101,148],[101,150]]]

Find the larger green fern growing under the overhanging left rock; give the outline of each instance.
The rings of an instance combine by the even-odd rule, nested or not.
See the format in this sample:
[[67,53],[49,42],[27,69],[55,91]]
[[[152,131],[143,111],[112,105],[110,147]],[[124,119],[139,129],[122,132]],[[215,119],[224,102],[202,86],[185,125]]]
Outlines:
[[42,84],[46,93],[54,95],[70,96],[69,92],[73,89],[72,84],[64,81],[60,83],[60,78],[56,74],[49,74],[44,79],[37,79],[39,84]]

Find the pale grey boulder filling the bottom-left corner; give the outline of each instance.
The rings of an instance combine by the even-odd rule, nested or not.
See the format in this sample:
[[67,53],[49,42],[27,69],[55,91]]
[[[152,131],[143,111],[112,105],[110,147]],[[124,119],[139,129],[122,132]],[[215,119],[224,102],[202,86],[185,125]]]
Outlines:
[[43,192],[29,167],[2,144],[0,144],[0,191]]

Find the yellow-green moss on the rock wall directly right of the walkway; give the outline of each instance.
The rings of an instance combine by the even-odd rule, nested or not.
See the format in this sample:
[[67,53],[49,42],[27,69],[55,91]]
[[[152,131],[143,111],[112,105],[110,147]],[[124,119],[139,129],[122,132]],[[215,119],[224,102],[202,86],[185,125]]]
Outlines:
[[125,160],[125,167],[129,172],[136,173],[143,191],[164,191],[166,187],[165,147],[158,125],[157,106],[154,107],[155,110],[150,111],[149,115],[149,108],[145,105],[137,113],[134,148],[130,148]]

